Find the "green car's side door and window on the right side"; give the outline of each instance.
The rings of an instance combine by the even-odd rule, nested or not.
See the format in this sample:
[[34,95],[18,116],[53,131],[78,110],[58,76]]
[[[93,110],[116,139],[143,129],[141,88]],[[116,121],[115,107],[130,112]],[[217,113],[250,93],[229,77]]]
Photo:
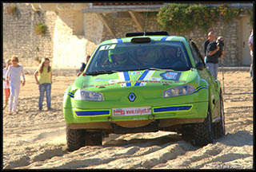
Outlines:
[[[205,65],[203,57],[199,52],[197,45],[195,45],[193,41],[190,41],[190,48],[194,57],[195,64],[197,64],[198,62],[201,62]],[[214,76],[210,74],[210,71],[208,70],[208,68],[203,68],[202,70],[198,70],[198,74],[202,79],[206,80],[206,82],[209,84],[210,108],[212,112],[212,117],[214,119],[218,117],[218,111],[217,111],[218,109],[216,108],[216,105],[218,104],[218,100],[219,100],[218,84],[214,79]]]

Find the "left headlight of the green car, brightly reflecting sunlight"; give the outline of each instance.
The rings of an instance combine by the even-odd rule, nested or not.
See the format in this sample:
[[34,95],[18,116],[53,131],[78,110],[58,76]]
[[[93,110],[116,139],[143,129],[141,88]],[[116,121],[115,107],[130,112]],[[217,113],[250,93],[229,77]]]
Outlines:
[[74,93],[74,99],[76,100],[88,100],[88,101],[103,101],[103,96],[98,92],[90,92],[82,89],[78,89]]

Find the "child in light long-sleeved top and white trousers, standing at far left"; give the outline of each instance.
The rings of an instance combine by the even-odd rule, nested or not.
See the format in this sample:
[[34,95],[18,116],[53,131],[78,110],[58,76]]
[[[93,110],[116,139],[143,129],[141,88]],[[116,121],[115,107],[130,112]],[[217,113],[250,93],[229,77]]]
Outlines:
[[10,84],[9,112],[17,112],[19,89],[21,83],[22,86],[25,85],[25,74],[23,66],[18,65],[18,57],[12,57],[11,63],[12,65],[10,65],[6,72],[6,84]]

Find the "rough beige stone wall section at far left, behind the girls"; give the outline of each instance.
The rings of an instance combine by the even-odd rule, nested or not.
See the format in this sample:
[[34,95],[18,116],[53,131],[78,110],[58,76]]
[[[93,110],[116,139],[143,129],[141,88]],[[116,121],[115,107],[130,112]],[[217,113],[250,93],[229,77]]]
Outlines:
[[[29,3],[13,3],[17,15],[7,14],[12,3],[3,3],[3,60],[18,56],[20,64],[37,66],[38,59],[53,57],[54,12],[34,12]],[[42,22],[47,25],[45,36],[34,33],[34,26]]]

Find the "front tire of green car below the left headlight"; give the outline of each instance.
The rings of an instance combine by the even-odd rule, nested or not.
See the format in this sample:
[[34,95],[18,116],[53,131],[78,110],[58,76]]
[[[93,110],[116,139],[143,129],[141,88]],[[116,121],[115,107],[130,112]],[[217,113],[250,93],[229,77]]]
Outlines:
[[70,129],[66,126],[67,151],[76,151],[85,146],[84,130]]

